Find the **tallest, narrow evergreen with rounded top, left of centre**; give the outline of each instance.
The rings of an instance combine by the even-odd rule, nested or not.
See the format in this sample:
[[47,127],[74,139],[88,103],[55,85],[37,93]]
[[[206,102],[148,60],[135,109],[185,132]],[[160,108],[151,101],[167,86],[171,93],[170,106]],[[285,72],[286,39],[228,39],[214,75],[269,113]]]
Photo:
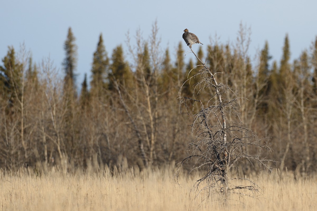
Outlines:
[[65,71],[65,84],[68,88],[75,90],[75,70],[77,65],[77,45],[72,29],[68,28],[67,39],[64,43],[66,57],[63,61]]

